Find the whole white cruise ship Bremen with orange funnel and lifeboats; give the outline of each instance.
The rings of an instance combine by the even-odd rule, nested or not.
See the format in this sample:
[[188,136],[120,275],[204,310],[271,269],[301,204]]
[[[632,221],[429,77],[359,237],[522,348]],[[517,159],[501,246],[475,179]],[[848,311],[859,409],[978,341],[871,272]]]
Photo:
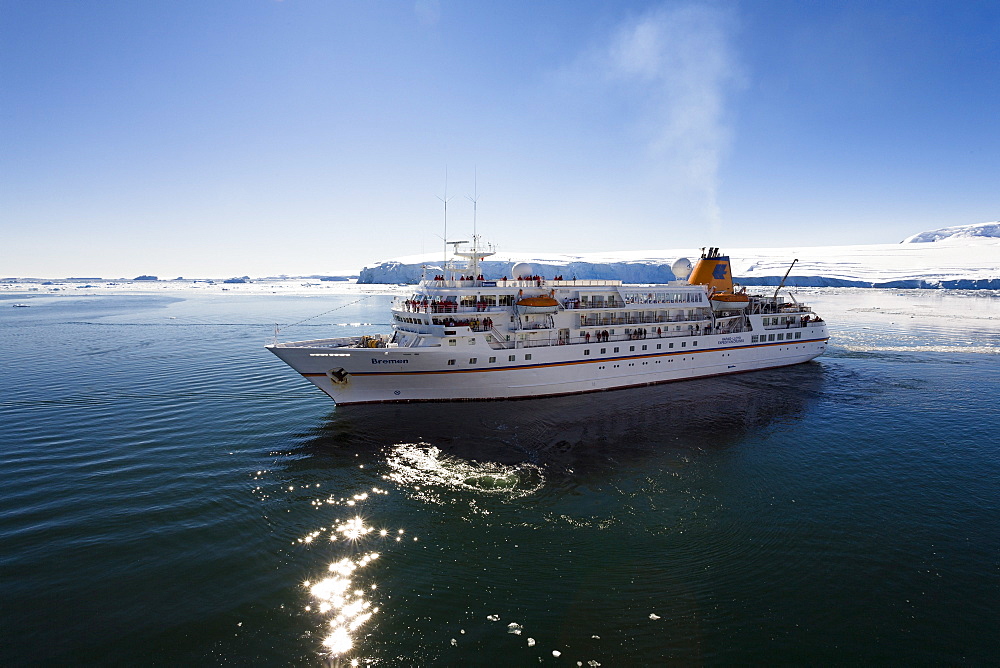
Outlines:
[[445,265],[398,297],[391,334],[268,350],[338,404],[360,404],[547,397],[742,373],[807,362],[829,339],[809,306],[780,296],[784,281],[763,296],[735,285],[718,248],[693,267],[679,259],[670,283],[624,285],[543,277],[526,263],[486,278],[479,266],[492,253],[451,243],[464,267]]

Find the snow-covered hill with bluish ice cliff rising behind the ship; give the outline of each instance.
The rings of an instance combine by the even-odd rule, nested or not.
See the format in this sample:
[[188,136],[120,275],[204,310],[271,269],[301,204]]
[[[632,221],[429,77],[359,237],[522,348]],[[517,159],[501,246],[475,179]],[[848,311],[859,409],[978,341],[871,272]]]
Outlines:
[[[733,275],[743,285],[777,285],[793,259],[786,281],[802,287],[1000,289],[1000,222],[923,232],[900,244],[791,248],[723,248]],[[510,275],[528,262],[535,273],[566,278],[617,278],[626,283],[674,279],[679,257],[694,261],[700,249],[546,254],[497,253],[482,263],[489,277]],[[440,254],[401,257],[361,270],[359,283],[414,283],[423,267],[440,272]]]

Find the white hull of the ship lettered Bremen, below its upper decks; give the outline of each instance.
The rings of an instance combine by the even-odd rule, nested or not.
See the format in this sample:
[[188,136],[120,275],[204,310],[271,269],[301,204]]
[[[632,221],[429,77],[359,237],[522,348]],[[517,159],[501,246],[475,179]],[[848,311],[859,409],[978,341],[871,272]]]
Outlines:
[[[749,333],[502,350],[484,343],[460,353],[448,348],[330,348],[321,342],[268,348],[338,404],[358,404],[597,392],[800,364],[826,350],[824,324],[796,333],[802,338],[766,343],[750,343]],[[496,361],[490,363],[490,358]]]

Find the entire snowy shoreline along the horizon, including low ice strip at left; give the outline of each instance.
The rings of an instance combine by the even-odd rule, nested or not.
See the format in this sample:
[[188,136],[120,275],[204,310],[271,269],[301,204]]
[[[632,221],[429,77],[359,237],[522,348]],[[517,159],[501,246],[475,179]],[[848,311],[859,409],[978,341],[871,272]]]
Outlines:
[[[785,285],[889,289],[1000,290],[1000,223],[979,223],[932,230],[898,244],[858,246],[792,246],[788,248],[722,248],[732,260],[733,277],[745,286],[776,286],[793,260]],[[517,263],[528,263],[541,276],[617,279],[626,284],[662,284],[675,279],[678,258],[696,259],[702,249],[617,251],[580,254],[498,252],[480,263],[487,278],[510,276]],[[85,289],[124,292],[199,289],[207,292],[271,292],[302,288],[348,290],[344,286],[412,285],[425,274],[444,273],[439,253],[400,257],[361,269],[357,281],[288,278],[194,280],[127,279],[0,279],[3,293],[60,292]],[[152,277],[150,277],[152,278]],[[268,287],[271,286],[271,287]],[[273,290],[272,290],[273,288]],[[363,288],[357,288],[363,291]],[[384,290],[392,291],[389,288]]]

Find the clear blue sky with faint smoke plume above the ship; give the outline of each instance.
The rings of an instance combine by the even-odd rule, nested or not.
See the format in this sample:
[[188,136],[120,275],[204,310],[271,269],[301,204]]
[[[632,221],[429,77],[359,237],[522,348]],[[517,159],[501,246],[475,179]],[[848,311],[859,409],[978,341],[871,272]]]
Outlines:
[[0,0],[0,276],[1000,218],[1000,3]]

